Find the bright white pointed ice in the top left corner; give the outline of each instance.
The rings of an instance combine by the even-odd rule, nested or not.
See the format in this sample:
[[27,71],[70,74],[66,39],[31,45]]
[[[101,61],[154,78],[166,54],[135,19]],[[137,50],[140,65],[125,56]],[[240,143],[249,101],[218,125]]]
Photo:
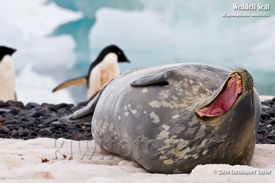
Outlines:
[[58,25],[83,16],[81,12],[60,8],[47,0],[2,0],[0,9],[0,20],[18,27],[27,39],[33,34],[43,37]]

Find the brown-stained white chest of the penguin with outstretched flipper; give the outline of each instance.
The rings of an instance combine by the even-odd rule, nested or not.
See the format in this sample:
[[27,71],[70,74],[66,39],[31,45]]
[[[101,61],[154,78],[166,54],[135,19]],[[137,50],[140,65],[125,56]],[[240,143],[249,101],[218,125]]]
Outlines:
[[90,99],[105,83],[119,75],[118,57],[115,53],[109,53],[90,71],[87,99]]

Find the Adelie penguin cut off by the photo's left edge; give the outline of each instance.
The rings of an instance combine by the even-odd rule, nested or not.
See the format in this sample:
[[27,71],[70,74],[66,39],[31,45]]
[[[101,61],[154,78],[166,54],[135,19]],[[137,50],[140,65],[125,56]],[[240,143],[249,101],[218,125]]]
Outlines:
[[16,100],[15,69],[11,55],[16,49],[0,46],[0,100]]

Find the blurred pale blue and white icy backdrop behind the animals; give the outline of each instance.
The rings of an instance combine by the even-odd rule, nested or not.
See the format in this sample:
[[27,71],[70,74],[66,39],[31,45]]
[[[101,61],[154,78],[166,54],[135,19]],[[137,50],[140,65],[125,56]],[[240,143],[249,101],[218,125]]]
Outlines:
[[[123,49],[135,67],[169,63],[207,63],[228,68],[240,64],[253,76],[260,95],[274,95],[275,16],[225,18],[236,13],[233,0],[113,1],[2,0],[1,45],[17,49],[16,72],[28,63],[58,82],[87,74],[107,45]],[[251,1],[251,3],[258,3]],[[270,6],[274,5],[269,2]],[[85,88],[70,90],[76,102]]]

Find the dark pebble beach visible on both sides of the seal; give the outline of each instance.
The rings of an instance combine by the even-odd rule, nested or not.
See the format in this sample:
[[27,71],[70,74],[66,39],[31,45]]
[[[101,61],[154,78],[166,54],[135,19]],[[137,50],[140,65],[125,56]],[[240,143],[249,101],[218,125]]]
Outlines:
[[[93,140],[91,123],[65,125],[58,117],[71,114],[86,106],[86,102],[73,104],[47,104],[0,101],[0,138],[39,137]],[[256,144],[275,144],[275,98],[262,102],[262,112],[256,134]]]

